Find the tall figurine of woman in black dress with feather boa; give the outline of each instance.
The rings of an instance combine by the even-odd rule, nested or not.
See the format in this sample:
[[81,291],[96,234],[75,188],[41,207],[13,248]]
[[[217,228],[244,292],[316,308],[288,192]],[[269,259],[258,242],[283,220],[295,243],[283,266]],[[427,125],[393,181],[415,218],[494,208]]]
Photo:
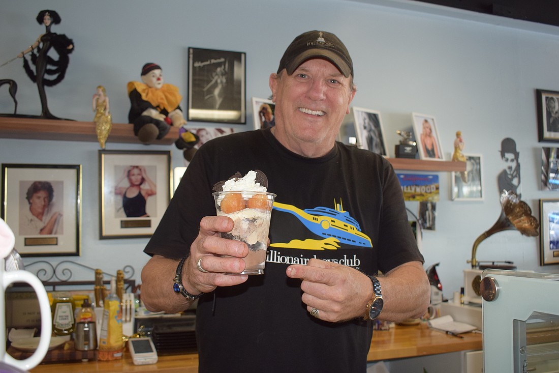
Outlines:
[[[74,42],[67,38],[64,34],[56,34],[50,32],[50,27],[60,23],[60,16],[53,10],[42,10],[37,15],[39,25],[45,25],[46,32],[37,38],[35,43],[22,50],[17,57],[23,58],[27,53],[31,52],[31,62],[35,65],[35,72],[32,70],[29,61],[23,58],[23,68],[31,78],[37,83],[39,88],[39,97],[41,99],[41,118],[59,119],[50,113],[46,104],[45,86],[54,86],[60,83],[66,74],[68,68],[68,55],[74,50]],[[58,53],[58,60],[48,55],[51,48]],[[37,51],[35,52],[35,49]],[[52,79],[45,78],[45,75],[54,76]]]

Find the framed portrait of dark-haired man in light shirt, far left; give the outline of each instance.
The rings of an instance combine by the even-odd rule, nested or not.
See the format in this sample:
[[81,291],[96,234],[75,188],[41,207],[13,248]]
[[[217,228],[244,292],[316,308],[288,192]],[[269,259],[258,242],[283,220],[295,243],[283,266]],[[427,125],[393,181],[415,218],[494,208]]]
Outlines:
[[2,218],[22,257],[81,254],[81,165],[2,164]]

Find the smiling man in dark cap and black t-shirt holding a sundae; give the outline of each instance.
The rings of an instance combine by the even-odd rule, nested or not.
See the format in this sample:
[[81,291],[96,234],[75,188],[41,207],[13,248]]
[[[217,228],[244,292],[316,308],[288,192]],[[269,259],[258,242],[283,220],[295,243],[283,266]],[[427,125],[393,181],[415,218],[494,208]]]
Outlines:
[[[356,92],[337,36],[298,36],[269,85],[276,126],[213,139],[188,166],[144,250],[153,258],[142,300],[176,312],[201,294],[201,372],[364,372],[371,319],[418,318],[429,304],[400,184],[380,155],[335,142]],[[243,271],[248,248],[217,236],[233,221],[215,216],[211,190],[249,170],[266,174],[282,208],[272,211],[264,274],[228,276]]]

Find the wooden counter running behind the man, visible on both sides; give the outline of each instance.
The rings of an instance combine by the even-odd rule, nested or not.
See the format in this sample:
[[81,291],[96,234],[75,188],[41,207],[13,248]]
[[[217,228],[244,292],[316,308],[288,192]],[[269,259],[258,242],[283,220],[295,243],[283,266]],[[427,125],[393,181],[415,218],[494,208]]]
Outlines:
[[[482,335],[462,334],[464,338],[454,337],[435,330],[427,325],[396,325],[390,330],[378,330],[373,334],[368,361],[391,360],[396,358],[435,355],[438,353],[482,348]],[[155,365],[134,365],[128,353],[122,360],[89,361],[62,364],[42,364],[31,373],[117,373],[117,372],[158,372],[190,373],[198,371],[198,355],[159,356]]]

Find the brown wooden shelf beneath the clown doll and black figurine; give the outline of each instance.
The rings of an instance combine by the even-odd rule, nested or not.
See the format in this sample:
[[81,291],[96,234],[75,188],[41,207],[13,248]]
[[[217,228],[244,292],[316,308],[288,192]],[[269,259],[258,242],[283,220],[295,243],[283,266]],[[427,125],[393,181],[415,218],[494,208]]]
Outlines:
[[[171,127],[169,133],[153,144],[169,145],[178,138],[179,127]],[[74,120],[0,117],[0,138],[20,138],[56,141],[90,141],[97,142],[93,122]],[[113,123],[107,143],[138,143],[130,123]]]

